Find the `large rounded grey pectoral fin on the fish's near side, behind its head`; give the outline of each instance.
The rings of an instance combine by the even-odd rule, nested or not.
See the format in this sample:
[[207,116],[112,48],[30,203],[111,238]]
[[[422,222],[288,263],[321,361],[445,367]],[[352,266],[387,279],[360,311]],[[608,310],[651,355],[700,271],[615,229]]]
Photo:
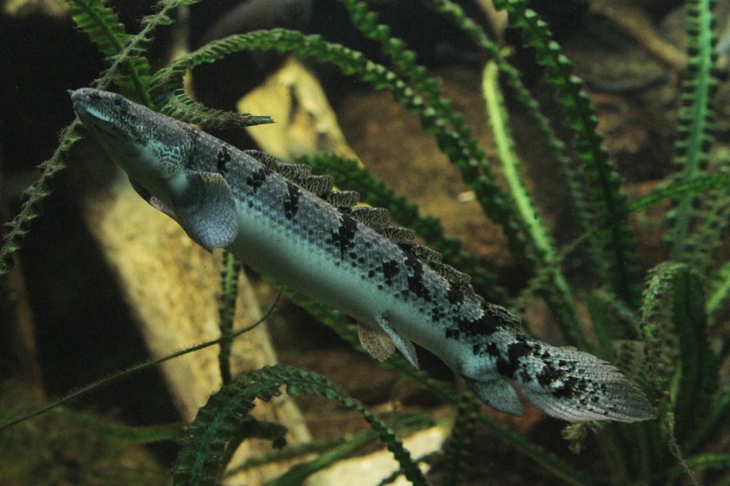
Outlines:
[[170,193],[175,219],[193,241],[210,252],[234,242],[236,202],[223,176],[186,171],[171,181]]

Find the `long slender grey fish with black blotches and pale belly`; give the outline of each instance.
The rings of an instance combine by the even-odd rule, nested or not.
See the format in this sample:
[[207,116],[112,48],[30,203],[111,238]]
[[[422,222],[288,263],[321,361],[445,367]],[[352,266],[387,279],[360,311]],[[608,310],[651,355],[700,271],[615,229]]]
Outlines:
[[388,225],[387,212],[353,207],[307,166],[243,151],[91,88],[72,92],[91,134],[137,192],[207,248],[226,248],[284,285],[350,315],[363,346],[383,360],[412,343],[442,359],[483,401],[520,414],[510,382],[553,417],[647,420],[654,412],[621,373],[571,347],[521,332],[506,309],[486,303],[469,278]]

